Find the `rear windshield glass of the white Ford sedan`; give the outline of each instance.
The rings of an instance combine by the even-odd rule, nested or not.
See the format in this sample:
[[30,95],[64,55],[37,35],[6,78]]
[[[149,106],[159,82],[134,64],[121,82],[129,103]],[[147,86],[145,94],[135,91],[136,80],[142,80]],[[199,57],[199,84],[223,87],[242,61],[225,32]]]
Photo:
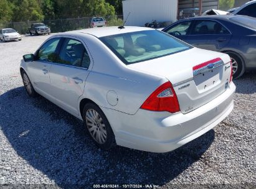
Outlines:
[[192,48],[191,45],[158,30],[110,35],[101,37],[100,40],[126,65]]

